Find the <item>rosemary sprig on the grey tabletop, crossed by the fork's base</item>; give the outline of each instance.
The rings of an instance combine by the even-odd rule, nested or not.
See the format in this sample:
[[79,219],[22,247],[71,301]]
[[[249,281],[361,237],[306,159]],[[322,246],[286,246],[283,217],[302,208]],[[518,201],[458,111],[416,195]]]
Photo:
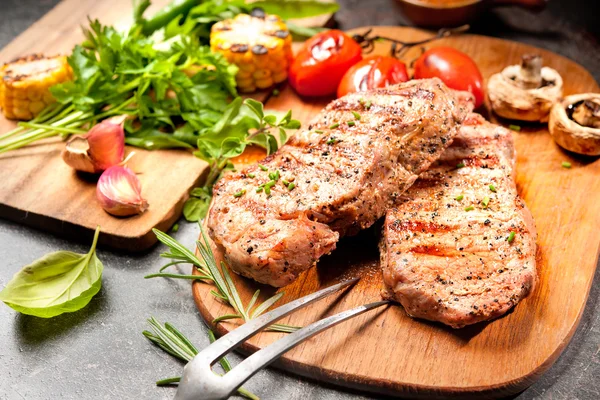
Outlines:
[[[172,324],[166,322],[163,325],[154,317],[151,317],[148,320],[150,327],[153,332],[143,331],[142,334],[146,336],[148,340],[152,343],[163,349],[165,352],[169,353],[173,357],[176,357],[182,361],[189,362],[196,354],[198,354],[198,349],[190,342],[190,340],[181,333],[177,328],[175,328]],[[208,331],[208,339],[211,343],[215,341],[215,334],[213,331]],[[231,371],[231,364],[226,357],[223,357],[219,360],[219,364],[225,371],[225,373]],[[157,386],[165,386],[172,385],[174,383],[178,383],[181,380],[181,377],[175,376],[172,378],[165,378],[159,381],[156,381]],[[244,389],[239,388],[238,394],[244,396],[247,399],[251,400],[259,400],[258,396],[254,393]]]

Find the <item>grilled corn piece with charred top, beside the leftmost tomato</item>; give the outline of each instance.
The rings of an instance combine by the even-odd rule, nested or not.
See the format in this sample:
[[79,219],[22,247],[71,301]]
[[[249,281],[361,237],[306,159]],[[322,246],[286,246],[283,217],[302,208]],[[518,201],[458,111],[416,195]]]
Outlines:
[[277,15],[254,10],[213,25],[210,34],[213,52],[239,67],[236,81],[240,92],[266,89],[287,79],[292,57],[292,37]]

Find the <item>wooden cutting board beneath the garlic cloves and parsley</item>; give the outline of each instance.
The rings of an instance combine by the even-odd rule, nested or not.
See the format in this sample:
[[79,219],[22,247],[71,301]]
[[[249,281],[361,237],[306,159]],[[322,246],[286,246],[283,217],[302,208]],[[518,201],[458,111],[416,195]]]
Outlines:
[[[152,1],[147,15],[169,3]],[[31,53],[69,54],[83,40],[81,26],[87,18],[99,19],[124,30],[131,24],[131,1],[64,0],[0,51],[0,65]],[[296,21],[321,26],[331,16]],[[268,92],[253,95],[263,101]],[[0,113],[0,134],[15,122]],[[168,230],[181,216],[191,188],[198,186],[207,164],[183,150],[135,150],[128,165],[139,175],[142,194],[150,208],[140,216],[115,218],[105,213],[95,198],[95,182],[82,179],[60,158],[64,143],[43,144],[0,154],[0,217],[51,231],[62,236],[91,241],[100,225],[100,245],[127,251],[142,251],[154,243],[152,228]]]

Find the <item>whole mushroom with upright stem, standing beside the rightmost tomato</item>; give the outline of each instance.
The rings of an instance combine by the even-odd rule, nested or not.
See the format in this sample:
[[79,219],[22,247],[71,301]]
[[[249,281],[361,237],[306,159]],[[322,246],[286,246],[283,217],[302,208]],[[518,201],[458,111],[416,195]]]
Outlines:
[[562,96],[560,74],[542,67],[539,55],[524,55],[521,65],[511,65],[492,75],[488,96],[501,117],[519,121],[548,121],[552,105]]

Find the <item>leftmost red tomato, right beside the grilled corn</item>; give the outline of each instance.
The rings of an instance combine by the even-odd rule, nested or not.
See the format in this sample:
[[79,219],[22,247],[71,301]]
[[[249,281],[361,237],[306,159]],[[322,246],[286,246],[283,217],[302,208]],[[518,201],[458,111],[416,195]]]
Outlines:
[[290,66],[289,80],[303,96],[335,94],[342,77],[362,58],[358,43],[332,29],[308,39]]

